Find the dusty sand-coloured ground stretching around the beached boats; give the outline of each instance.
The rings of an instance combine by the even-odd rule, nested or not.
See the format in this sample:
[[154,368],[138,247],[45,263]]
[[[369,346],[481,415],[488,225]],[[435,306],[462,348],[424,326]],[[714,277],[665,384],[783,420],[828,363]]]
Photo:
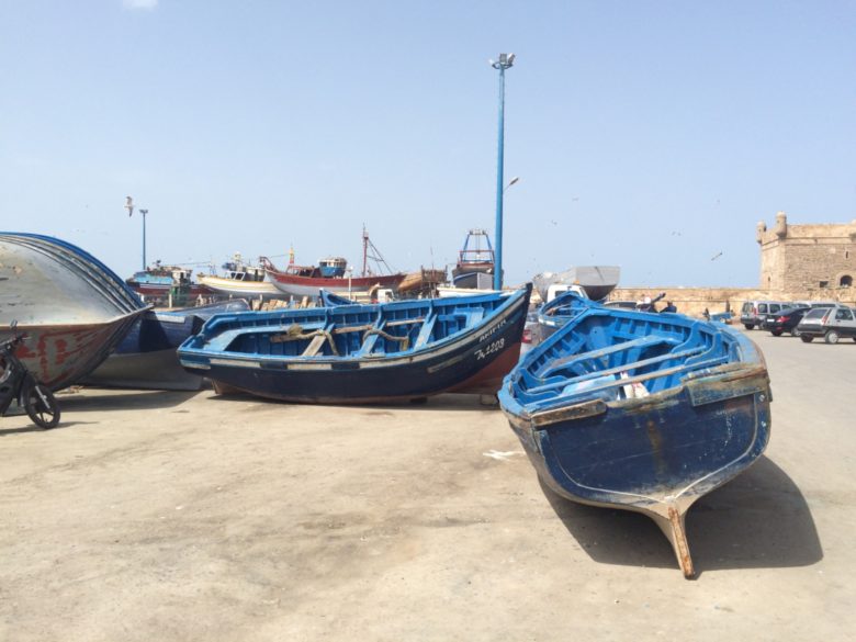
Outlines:
[[856,343],[754,331],[773,437],[687,520],[542,487],[498,409],[86,390],[0,419],[0,640],[846,640]]

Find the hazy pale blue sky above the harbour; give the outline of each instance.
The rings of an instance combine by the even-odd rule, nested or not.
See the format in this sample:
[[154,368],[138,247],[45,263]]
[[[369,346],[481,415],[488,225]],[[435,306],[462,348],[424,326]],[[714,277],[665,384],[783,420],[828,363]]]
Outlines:
[[506,282],[752,286],[759,219],[856,218],[854,34],[852,1],[0,0],[0,228],[126,277],[129,194],[149,261],[357,264],[364,223],[453,262],[493,235],[514,52]]

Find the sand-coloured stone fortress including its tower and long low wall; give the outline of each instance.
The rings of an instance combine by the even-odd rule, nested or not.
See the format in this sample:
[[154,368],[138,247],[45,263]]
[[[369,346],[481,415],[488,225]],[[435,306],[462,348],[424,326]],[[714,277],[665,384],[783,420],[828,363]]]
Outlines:
[[761,247],[758,288],[617,288],[612,301],[640,301],[666,292],[678,312],[700,316],[731,309],[735,315],[745,301],[838,301],[856,306],[856,219],[846,224],[790,225],[784,212],[771,229],[756,227]]

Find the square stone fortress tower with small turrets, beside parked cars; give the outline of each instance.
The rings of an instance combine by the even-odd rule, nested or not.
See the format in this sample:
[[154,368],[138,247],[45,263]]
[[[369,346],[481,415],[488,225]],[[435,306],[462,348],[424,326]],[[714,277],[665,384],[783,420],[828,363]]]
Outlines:
[[762,221],[761,289],[784,299],[852,299],[856,277],[856,219],[847,224],[789,225],[776,214],[773,229]]

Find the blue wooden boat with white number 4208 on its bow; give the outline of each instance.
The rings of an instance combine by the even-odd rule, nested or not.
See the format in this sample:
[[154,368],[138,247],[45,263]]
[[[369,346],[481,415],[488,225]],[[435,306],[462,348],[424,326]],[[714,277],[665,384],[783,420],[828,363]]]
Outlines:
[[218,315],[179,348],[218,386],[306,403],[495,393],[519,358],[517,292]]

